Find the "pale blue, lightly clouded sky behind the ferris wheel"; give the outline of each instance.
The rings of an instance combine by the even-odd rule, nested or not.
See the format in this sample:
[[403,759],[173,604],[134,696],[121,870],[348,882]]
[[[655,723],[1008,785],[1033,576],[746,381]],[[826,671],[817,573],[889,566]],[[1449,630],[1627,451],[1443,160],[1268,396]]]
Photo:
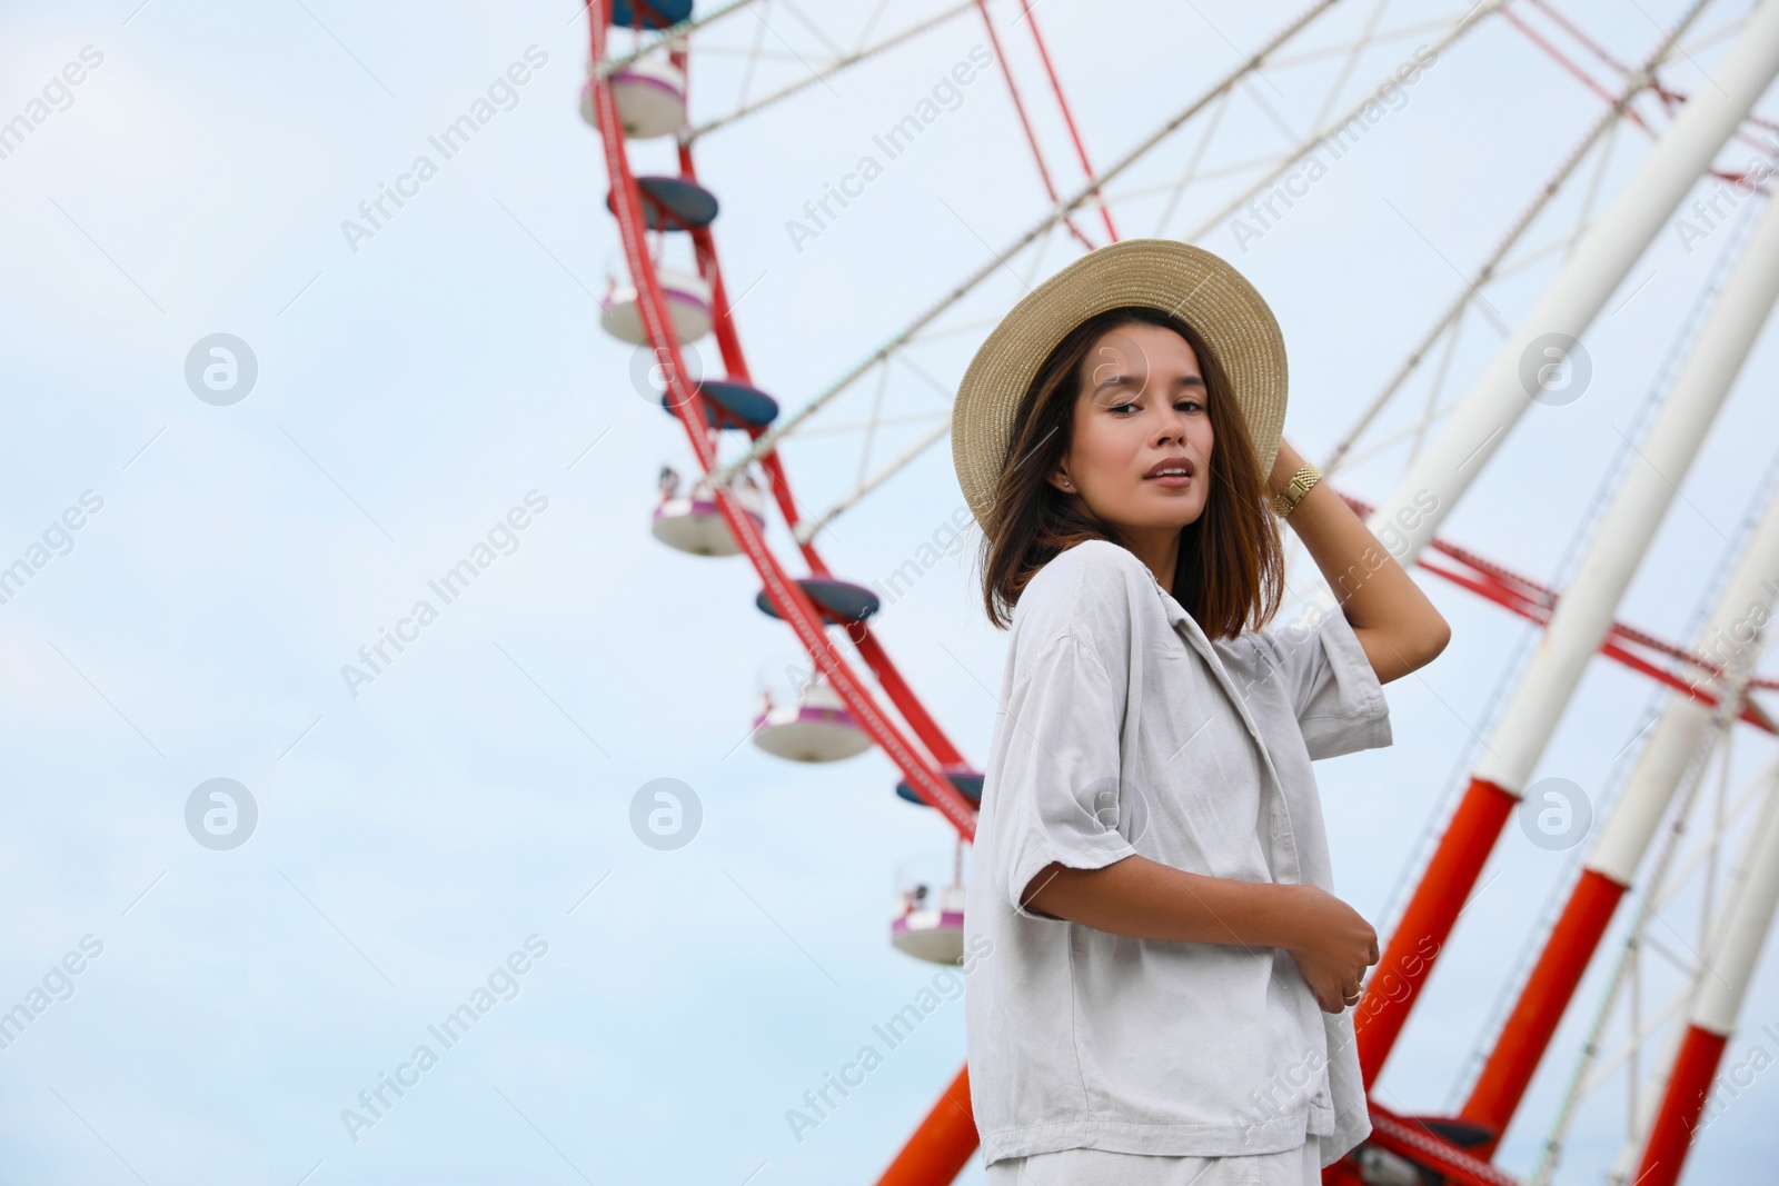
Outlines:
[[[1195,133],[1176,135],[1114,187],[1121,236],[1190,238],[1265,295],[1290,349],[1286,437],[1311,461],[1603,110],[1501,16],[1429,60],[1416,50],[1461,5],[1352,4],[1309,48],[1354,39],[1379,12],[1379,28],[1409,32],[1347,73],[1308,50],[1268,66],[1203,156]],[[749,5],[694,39],[692,119],[943,7]],[[1080,165],[1018,7],[989,7],[1059,192],[1073,192]],[[1560,12],[1603,55],[1642,60],[1683,7]],[[1747,9],[1710,5],[1663,82],[1711,85],[1731,44],[1713,34]],[[1103,167],[1302,9],[1034,11]],[[1560,39],[1548,14],[1523,20]],[[895,795],[875,750],[801,765],[753,745],[761,692],[783,699],[802,654],[754,608],[744,560],[649,535],[660,466],[687,473],[692,457],[648,357],[600,327],[600,295],[624,265],[600,144],[576,110],[585,16],[559,0],[117,0],[12,5],[0,21],[0,124],[30,124],[0,158],[0,564],[30,565],[0,605],[0,1010],[32,1010],[0,1049],[5,1177],[875,1181],[962,1065],[950,973],[888,942],[897,889],[943,878],[954,839]],[[765,50],[753,64],[751,46]],[[786,414],[993,265],[886,382],[872,372],[786,441],[806,516],[943,423],[987,327],[1082,251],[1053,235],[998,260],[1050,203],[998,69],[943,89],[984,57],[980,18],[964,12],[694,149],[720,203],[753,379]],[[1414,82],[1283,215],[1213,219],[1256,158],[1405,62],[1421,62]],[[1617,78],[1605,57],[1585,66]],[[906,151],[877,148],[934,96],[938,116]],[[1667,126],[1656,105],[1640,110]],[[434,146],[479,112],[473,139]],[[1651,144],[1624,128],[1603,162],[1589,156],[1512,256],[1523,265],[1485,288],[1487,308],[1441,354],[1437,398],[1430,372],[1411,381],[1361,437],[1361,461],[1331,478],[1343,493],[1389,496],[1416,421],[1469,388],[1557,274],[1564,238],[1610,206]],[[1719,162],[1756,151],[1733,142]],[[873,153],[882,167],[863,196],[811,236],[806,203]],[[1176,192],[1194,164],[1201,181]],[[632,146],[632,165],[676,171],[671,142]],[[390,188],[407,197],[372,220]],[[1663,226],[1583,338],[1585,393],[1523,418],[1441,539],[1555,587],[1573,578],[1759,204],[1703,236]],[[1078,226],[1105,240],[1098,213]],[[688,260],[683,244],[664,252]],[[715,373],[713,340],[692,345]],[[1676,642],[1697,629],[1772,489],[1775,366],[1768,331],[1697,461],[1663,475],[1676,498],[1621,621]],[[873,407],[884,423],[866,443],[856,427]],[[882,581],[945,539],[961,507],[941,439],[817,546],[836,574]],[[783,521],[769,541],[802,571]],[[973,541],[886,605],[877,633],[982,763],[1005,635],[980,612]],[[1308,597],[1313,565],[1300,549],[1292,565]],[[1539,637],[1414,576],[1452,644],[1386,688],[1395,745],[1318,765],[1336,887],[1381,932]],[[1644,677],[1596,661],[1535,777],[1571,779],[1598,818],[1660,702]],[[1738,733],[1706,807],[1742,802],[1772,750]],[[697,804],[678,848],[644,843],[633,823],[658,779]],[[1701,873],[1727,869],[1742,830]],[[1582,855],[1507,829],[1381,1099],[1461,1102]],[[1663,902],[1663,946],[1685,957],[1711,902],[1703,877]],[[1509,1131],[1510,1172],[1537,1156],[1622,937],[1621,918]],[[1681,980],[1646,962],[1651,1024]],[[815,1129],[793,1131],[804,1092],[925,992],[941,1003],[922,1026]],[[1779,1031],[1770,946],[1726,1067],[1779,1054],[1763,1024]],[[1610,1046],[1624,1028],[1621,1008]],[[1612,1165],[1626,1083],[1660,1051],[1658,1030],[1582,1101],[1557,1181]],[[1747,1177],[1779,1152],[1767,1122],[1779,1086],[1747,1079],[1703,1133],[1690,1181]],[[980,1174],[973,1159],[962,1181]]]

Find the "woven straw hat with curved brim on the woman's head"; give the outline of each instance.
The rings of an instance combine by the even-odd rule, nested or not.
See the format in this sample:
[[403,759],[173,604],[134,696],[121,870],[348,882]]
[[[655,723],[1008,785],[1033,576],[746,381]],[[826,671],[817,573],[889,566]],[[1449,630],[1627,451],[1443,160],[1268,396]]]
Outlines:
[[1220,256],[1172,238],[1098,247],[1034,288],[982,341],[952,405],[952,464],[986,530],[1014,413],[1039,365],[1096,313],[1140,304],[1199,333],[1235,388],[1260,473],[1284,429],[1284,336],[1272,309]]

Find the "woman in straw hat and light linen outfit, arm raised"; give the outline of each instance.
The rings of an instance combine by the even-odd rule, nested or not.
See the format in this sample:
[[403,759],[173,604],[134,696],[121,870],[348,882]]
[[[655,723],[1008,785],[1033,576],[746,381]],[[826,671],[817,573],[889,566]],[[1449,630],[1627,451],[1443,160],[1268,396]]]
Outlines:
[[[1281,441],[1284,389],[1260,293],[1171,240],[1044,281],[959,388],[1010,610],[964,910],[993,1186],[1318,1182],[1370,1133],[1377,934],[1331,893],[1309,763],[1389,745],[1381,685],[1450,631]],[[1340,605],[1265,628],[1279,517]]]

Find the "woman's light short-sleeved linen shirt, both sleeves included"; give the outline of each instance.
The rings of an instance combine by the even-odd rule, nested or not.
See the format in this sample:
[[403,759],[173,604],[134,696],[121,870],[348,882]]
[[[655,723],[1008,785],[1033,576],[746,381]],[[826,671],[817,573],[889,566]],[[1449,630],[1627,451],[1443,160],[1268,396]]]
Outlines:
[[1332,893],[1311,759],[1389,745],[1338,608],[1211,642],[1131,551],[1076,544],[1014,606],[964,930],[984,1165],[1062,1149],[1245,1156],[1370,1131],[1352,1012],[1281,948],[1133,939],[1034,914],[1057,861]]

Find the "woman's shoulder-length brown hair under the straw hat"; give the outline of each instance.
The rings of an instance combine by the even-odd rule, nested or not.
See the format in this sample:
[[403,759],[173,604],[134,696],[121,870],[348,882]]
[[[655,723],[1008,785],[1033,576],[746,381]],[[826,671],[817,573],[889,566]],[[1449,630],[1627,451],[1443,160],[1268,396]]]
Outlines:
[[1051,349],[1019,400],[991,523],[984,528],[978,564],[989,622],[1012,624],[1012,608],[1032,576],[1059,553],[1089,539],[1128,548],[1115,526],[1094,516],[1080,498],[1053,487],[1053,473],[1075,434],[1080,366],[1108,329],[1131,324],[1172,329],[1197,356],[1211,420],[1211,496],[1197,521],[1179,528],[1179,562],[1169,592],[1192,613],[1208,638],[1226,638],[1249,624],[1260,628],[1279,610],[1284,590],[1284,548],[1279,525],[1265,505],[1267,475],[1260,471],[1247,420],[1228,375],[1204,340],[1183,320],[1147,306],[1121,306],[1087,318]]

